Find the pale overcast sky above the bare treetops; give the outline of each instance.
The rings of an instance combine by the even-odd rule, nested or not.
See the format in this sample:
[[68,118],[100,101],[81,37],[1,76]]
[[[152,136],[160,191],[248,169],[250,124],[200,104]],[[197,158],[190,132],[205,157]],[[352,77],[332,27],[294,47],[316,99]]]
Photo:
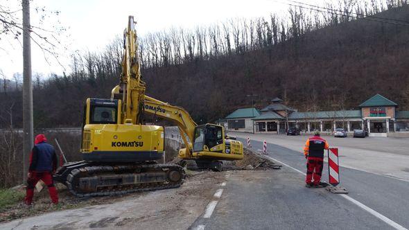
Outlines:
[[[17,0],[2,0],[10,8],[18,9]],[[286,1],[286,0],[281,0]],[[319,4],[320,0],[303,0],[305,3]],[[1,3],[3,4],[3,3]],[[128,15],[134,15],[137,21],[137,33],[140,36],[167,28],[194,28],[225,21],[226,19],[245,17],[266,17],[272,12],[286,12],[288,6],[272,0],[35,0],[31,1],[32,24],[38,24],[35,6],[44,6],[46,10],[60,10],[55,17],[45,19],[42,27],[51,28],[56,20],[67,28],[59,37],[67,50],[60,49],[59,60],[69,69],[69,55],[74,51],[98,51],[105,48],[116,35],[122,35],[128,22]],[[33,72],[62,74],[64,70],[58,62],[49,57],[44,59],[40,48],[32,46]],[[11,78],[12,73],[22,72],[21,45],[11,39],[0,39],[0,70]],[[1,73],[1,72],[0,72]]]

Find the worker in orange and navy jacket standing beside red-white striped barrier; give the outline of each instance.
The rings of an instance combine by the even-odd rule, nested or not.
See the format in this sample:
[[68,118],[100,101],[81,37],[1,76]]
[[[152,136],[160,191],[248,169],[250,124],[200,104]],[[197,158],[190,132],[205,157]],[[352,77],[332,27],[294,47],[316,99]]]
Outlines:
[[315,132],[313,137],[307,139],[304,147],[304,156],[307,159],[306,187],[322,187],[320,179],[324,166],[324,150],[328,148],[328,142],[320,137],[320,132]]

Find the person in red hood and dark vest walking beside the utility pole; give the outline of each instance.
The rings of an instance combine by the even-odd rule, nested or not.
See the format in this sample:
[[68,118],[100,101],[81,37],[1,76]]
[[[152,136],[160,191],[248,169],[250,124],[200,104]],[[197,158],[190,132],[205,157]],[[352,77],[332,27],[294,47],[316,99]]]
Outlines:
[[27,191],[25,204],[31,205],[33,202],[35,184],[41,179],[49,188],[51,201],[58,204],[57,189],[53,183],[53,173],[57,168],[57,155],[53,145],[46,143],[44,134],[35,136],[34,147],[30,155],[30,167],[27,175]]

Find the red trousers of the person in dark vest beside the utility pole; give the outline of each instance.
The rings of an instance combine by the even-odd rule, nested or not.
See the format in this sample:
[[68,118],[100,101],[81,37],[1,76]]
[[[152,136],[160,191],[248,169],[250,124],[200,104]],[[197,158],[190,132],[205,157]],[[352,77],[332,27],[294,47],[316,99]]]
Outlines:
[[32,172],[32,176],[27,179],[26,198],[24,199],[26,204],[31,204],[31,202],[33,202],[35,184],[37,184],[40,179],[49,188],[51,201],[54,204],[58,204],[57,189],[55,189],[51,172]]

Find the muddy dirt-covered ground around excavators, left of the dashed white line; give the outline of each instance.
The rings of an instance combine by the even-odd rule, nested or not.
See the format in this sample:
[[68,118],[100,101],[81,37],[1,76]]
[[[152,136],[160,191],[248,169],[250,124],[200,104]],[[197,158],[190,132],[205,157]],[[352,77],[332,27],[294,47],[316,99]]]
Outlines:
[[[245,150],[245,158],[236,161],[237,168],[269,170],[259,154]],[[259,166],[259,167],[258,167]],[[133,193],[119,197],[78,198],[58,184],[60,204],[51,205],[49,194],[35,193],[34,204],[27,208],[22,201],[0,211],[0,229],[94,229],[105,227],[146,227],[152,229],[186,229],[204,211],[209,200],[229,172],[191,172],[181,188]],[[96,212],[95,212],[96,211]],[[30,218],[31,217],[31,218]],[[75,218],[76,221],[71,220]],[[15,220],[19,219],[19,220]],[[15,220],[9,222],[10,220]],[[41,221],[40,221],[41,220]],[[44,222],[46,220],[46,222]],[[166,221],[164,221],[166,220]],[[1,223],[6,223],[6,225]],[[169,225],[173,224],[173,225]]]

